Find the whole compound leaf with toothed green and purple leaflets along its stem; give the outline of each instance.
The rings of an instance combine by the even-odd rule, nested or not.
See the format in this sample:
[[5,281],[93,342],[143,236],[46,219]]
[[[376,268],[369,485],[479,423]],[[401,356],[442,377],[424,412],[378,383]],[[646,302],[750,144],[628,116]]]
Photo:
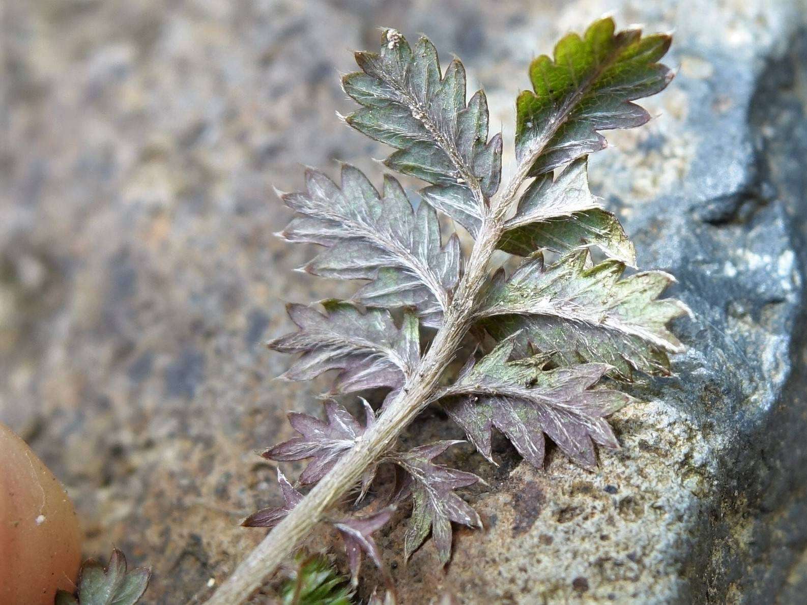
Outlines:
[[[688,308],[659,298],[673,278],[659,271],[625,277],[625,267],[635,264],[633,245],[587,181],[587,154],[606,145],[600,131],[636,127],[650,118],[633,101],[663,90],[671,80],[670,70],[658,63],[669,44],[668,35],[617,32],[612,19],[601,19],[583,37],[565,36],[552,58],[534,60],[533,91],[516,99],[518,165],[497,194],[502,139],[488,140],[483,92],[466,101],[466,73],[458,60],[443,73],[429,40],[410,46],[398,31],[385,30],[380,52],[357,52],[362,71],[342,79],[345,92],[361,106],[345,121],[395,148],[387,167],[429,183],[420,192],[423,202],[413,205],[392,177],[385,177],[379,192],[349,165],[343,166],[339,185],[309,169],[304,191],[282,195],[297,215],[281,235],[326,248],[304,270],[368,283],[351,302],[324,301],[324,312],[289,306],[299,330],[273,340],[270,348],[300,353],[285,378],[309,380],[334,369],[333,393],[390,390],[381,409],[391,416],[368,430],[374,413],[366,402],[362,426],[329,401],[326,420],[291,414],[299,436],[264,455],[278,461],[311,459],[300,478],[307,484],[340,470],[341,458],[357,448],[357,458],[364,453],[373,458],[360,499],[378,463],[395,463],[399,482],[393,502],[413,499],[406,558],[431,532],[445,565],[452,522],[481,527],[479,515],[454,491],[480,479],[433,462],[457,441],[389,451],[421,403],[440,398],[488,459],[497,428],[537,467],[544,461],[547,436],[573,461],[591,467],[595,444],[618,447],[605,419],[630,401],[626,394],[598,387],[600,379],[609,374],[629,380],[636,371],[667,374],[667,356],[684,350],[667,324]],[[563,165],[554,177],[554,169]],[[443,244],[438,211],[478,239],[467,266],[456,234]],[[525,257],[509,277],[504,269],[492,278],[488,273],[495,248]],[[591,248],[600,248],[608,260],[594,265]],[[557,252],[559,260],[545,266],[546,250]],[[439,328],[433,337],[424,332],[428,361],[420,359],[421,324]],[[445,386],[451,373],[445,370],[454,368],[470,341],[490,337],[500,344],[479,361],[471,356],[454,383]],[[358,469],[348,474],[352,483]],[[334,499],[352,487],[345,483],[347,475],[334,476],[333,483],[330,478],[328,486],[312,491],[315,516],[323,512],[317,498],[326,487]],[[244,524],[273,527],[303,501],[279,471],[278,482],[284,505],[257,511]],[[306,510],[299,513],[307,513],[304,501],[302,506]],[[386,509],[332,521],[345,539],[354,578],[364,555],[381,566],[373,533],[390,515]],[[312,569],[312,599],[319,594],[319,577],[326,592],[341,586],[320,567]],[[284,599],[303,603],[298,599],[303,588],[296,582]]]

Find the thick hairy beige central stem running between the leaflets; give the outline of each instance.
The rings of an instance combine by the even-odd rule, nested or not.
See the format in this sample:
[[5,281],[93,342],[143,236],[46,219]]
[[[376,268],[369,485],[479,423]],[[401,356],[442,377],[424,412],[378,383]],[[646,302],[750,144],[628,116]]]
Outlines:
[[324,512],[337,503],[362,478],[368,465],[377,461],[395,444],[403,429],[427,407],[432,400],[437,381],[443,370],[454,359],[459,344],[470,328],[475,302],[487,281],[487,264],[502,234],[502,212],[509,207],[508,198],[515,195],[508,187],[508,196],[502,198],[483,222],[479,238],[470,253],[465,275],[460,281],[454,300],[445,310],[443,324],[400,391],[369,431],[355,447],[337,462],[308,492],[303,500],[283,519],[266,538],[249,553],[232,575],[207,601],[209,605],[236,605],[249,599],[278,566],[294,553],[303,540],[323,518]]

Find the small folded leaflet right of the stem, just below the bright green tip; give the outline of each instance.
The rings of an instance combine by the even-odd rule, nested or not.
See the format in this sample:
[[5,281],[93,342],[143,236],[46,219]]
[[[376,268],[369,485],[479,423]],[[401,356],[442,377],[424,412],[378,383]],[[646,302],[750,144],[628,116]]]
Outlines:
[[619,219],[600,207],[588,188],[587,160],[573,161],[553,179],[537,177],[504,225],[499,247],[527,257],[539,248],[571,252],[596,245],[608,257],[636,264],[636,251]]

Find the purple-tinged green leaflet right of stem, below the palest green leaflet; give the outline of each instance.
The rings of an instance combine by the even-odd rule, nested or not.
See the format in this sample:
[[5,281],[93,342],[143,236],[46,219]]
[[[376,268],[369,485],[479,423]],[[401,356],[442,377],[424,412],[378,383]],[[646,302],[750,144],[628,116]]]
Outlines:
[[493,461],[493,427],[504,432],[537,468],[544,461],[545,433],[572,461],[589,468],[596,465],[592,441],[619,447],[604,417],[631,398],[618,390],[591,388],[608,365],[546,370],[547,356],[508,361],[513,346],[511,337],[475,364],[471,357],[457,382],[446,390],[445,411],[484,457]]

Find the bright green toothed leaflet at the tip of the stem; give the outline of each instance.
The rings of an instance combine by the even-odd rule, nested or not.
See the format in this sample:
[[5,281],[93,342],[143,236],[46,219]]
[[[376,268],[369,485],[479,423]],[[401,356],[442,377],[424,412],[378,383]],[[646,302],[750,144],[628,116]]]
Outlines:
[[631,101],[663,90],[673,73],[656,61],[669,35],[642,37],[638,29],[615,33],[613,19],[592,23],[581,38],[568,34],[554,59],[529,65],[533,90],[516,99],[516,156],[537,176],[607,143],[597,131],[641,126],[650,119]]

